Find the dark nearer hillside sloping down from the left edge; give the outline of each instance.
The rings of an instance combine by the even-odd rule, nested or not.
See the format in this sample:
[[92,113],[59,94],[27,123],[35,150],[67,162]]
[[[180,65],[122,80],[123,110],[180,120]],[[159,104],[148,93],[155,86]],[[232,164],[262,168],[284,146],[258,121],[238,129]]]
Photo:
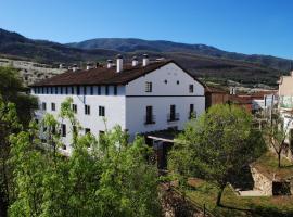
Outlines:
[[56,42],[28,39],[0,28],[0,54],[41,63],[74,63],[112,58],[117,54],[117,51],[71,48]]

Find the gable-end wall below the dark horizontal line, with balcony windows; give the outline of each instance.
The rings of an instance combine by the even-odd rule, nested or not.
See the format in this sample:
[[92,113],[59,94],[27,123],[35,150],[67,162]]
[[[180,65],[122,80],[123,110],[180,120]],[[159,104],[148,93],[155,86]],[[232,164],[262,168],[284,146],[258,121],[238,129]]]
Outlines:
[[[137,132],[148,132],[177,127],[183,129],[190,119],[190,104],[194,106],[194,114],[199,116],[205,110],[204,97],[144,97],[126,99],[126,129],[130,136]],[[170,105],[175,105],[178,114],[171,119]],[[152,106],[153,123],[148,123],[146,106]]]

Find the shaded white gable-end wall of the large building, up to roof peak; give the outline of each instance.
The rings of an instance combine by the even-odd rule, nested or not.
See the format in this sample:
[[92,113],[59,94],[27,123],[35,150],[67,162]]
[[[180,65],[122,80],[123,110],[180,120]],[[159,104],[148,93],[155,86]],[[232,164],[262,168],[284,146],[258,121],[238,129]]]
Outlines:
[[[146,81],[152,82],[152,92],[145,92]],[[171,104],[176,105],[179,120],[167,122]],[[130,136],[169,127],[181,130],[189,120],[190,104],[194,104],[198,116],[205,111],[204,87],[176,64],[167,64],[126,86],[126,129]],[[144,124],[146,106],[153,106],[155,124]]]

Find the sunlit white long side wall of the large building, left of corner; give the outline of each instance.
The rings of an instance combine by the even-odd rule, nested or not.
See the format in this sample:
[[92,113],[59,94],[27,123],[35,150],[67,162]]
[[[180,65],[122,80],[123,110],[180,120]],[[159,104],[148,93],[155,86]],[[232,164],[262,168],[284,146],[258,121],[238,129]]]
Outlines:
[[[76,89],[76,87],[75,87]],[[105,87],[101,88],[101,95],[98,95],[98,87],[94,88],[93,95],[90,95],[90,87],[87,87],[87,93],[84,94],[84,88],[80,87],[80,94],[35,94],[39,98],[39,104],[41,107],[42,102],[47,103],[47,113],[53,114],[60,123],[66,124],[66,137],[62,140],[66,144],[66,150],[71,150],[72,143],[72,126],[67,120],[62,120],[58,117],[60,113],[61,103],[65,101],[67,97],[73,98],[73,103],[77,105],[76,118],[80,123],[82,128],[89,128],[91,133],[98,136],[99,131],[105,131],[104,118],[106,119],[107,129],[113,128],[115,125],[120,125],[125,129],[125,87],[119,86],[117,95],[113,95],[113,87],[109,87],[109,95],[104,95]],[[59,88],[59,93],[60,93]],[[63,91],[65,93],[65,91]],[[51,110],[51,103],[55,103],[55,111]],[[90,105],[90,115],[85,114],[85,105]],[[99,116],[99,106],[105,107],[105,117]],[[36,113],[37,118],[41,120],[43,111]],[[85,133],[80,131],[80,133]]]

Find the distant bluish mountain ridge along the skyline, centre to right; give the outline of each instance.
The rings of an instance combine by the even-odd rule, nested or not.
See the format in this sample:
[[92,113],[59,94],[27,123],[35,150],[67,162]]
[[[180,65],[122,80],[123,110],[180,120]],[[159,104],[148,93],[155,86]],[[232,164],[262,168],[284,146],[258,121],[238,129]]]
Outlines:
[[[281,71],[290,69],[290,61],[270,55],[246,55],[235,52],[227,52],[215,47],[205,44],[188,44],[164,40],[142,40],[136,38],[98,38],[81,42],[67,43],[72,48],[79,49],[109,49],[122,52],[180,52],[195,55],[207,55],[214,58],[245,61],[251,63],[259,63],[267,67]],[[293,62],[292,62],[293,63]]]

